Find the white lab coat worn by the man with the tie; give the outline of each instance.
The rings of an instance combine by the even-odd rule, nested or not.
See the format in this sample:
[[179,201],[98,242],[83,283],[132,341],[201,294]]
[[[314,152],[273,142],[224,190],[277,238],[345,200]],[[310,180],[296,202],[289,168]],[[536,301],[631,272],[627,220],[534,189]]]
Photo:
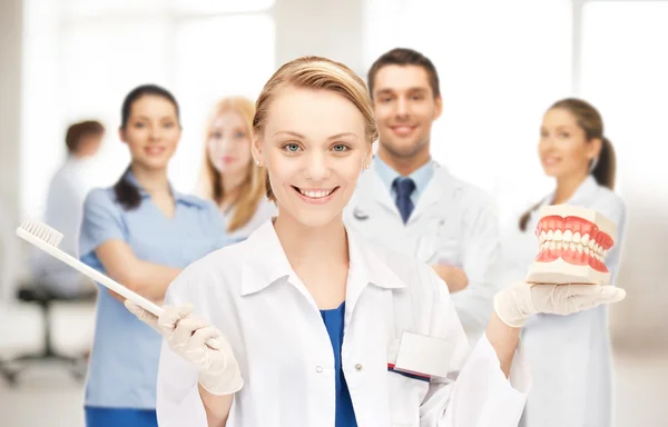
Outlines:
[[403,224],[390,190],[374,168],[364,171],[344,220],[370,241],[430,265],[464,270],[469,287],[451,296],[474,345],[492,314],[500,260],[499,219],[492,198],[433,163],[434,175]]

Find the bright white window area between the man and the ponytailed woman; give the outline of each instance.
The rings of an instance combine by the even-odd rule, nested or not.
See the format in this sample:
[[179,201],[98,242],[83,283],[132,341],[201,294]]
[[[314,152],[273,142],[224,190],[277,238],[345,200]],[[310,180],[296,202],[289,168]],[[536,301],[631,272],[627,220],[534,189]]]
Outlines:
[[546,189],[540,118],[571,93],[570,2],[370,0],[366,17],[367,67],[403,46],[439,70],[444,110],[434,158],[493,192],[504,216],[536,201]]

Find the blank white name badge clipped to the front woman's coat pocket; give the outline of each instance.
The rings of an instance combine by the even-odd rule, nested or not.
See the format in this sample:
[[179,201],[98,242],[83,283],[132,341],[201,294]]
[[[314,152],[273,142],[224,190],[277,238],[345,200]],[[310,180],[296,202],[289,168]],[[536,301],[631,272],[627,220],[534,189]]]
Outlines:
[[415,379],[445,378],[450,373],[453,349],[452,341],[403,331],[396,361],[387,364],[387,369],[407,374]]

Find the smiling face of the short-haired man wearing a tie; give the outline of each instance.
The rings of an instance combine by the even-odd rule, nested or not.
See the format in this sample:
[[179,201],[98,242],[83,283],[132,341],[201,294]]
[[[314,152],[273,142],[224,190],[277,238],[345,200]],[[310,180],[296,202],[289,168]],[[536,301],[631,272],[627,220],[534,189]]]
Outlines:
[[442,110],[429,73],[419,66],[385,66],[375,75],[374,112],[381,149],[392,157],[429,156],[432,122]]

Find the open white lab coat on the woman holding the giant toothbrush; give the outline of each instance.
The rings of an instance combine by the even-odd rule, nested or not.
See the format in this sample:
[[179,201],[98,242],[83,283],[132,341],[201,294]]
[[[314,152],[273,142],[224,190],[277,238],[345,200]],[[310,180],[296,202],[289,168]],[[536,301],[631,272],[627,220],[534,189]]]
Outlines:
[[[433,270],[372,249],[352,230],[348,245],[342,368],[357,425],[517,426],[530,383],[522,351],[515,351],[510,380],[485,337],[464,365],[468,341]],[[166,299],[193,302],[196,315],[218,327],[235,350],[245,385],[235,395],[228,427],[334,426],[332,344],[271,220],[247,240],[187,267]],[[449,379],[430,384],[387,370],[404,330],[451,344],[442,359]],[[166,346],[157,414],[160,426],[206,426],[197,373]]]

